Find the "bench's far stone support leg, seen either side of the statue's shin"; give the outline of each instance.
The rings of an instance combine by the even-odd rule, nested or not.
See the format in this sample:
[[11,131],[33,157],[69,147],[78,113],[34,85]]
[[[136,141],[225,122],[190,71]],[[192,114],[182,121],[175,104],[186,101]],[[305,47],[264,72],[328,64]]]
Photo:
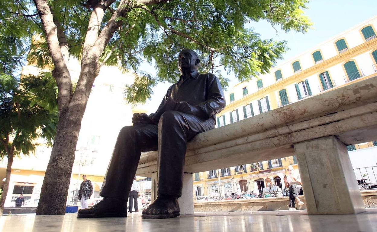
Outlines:
[[[152,173],[152,201],[157,197],[157,172]],[[178,198],[179,209],[181,210],[180,214],[194,214],[194,192],[193,192],[193,182],[192,182],[192,173],[184,173],[183,175],[183,188],[182,196]]]

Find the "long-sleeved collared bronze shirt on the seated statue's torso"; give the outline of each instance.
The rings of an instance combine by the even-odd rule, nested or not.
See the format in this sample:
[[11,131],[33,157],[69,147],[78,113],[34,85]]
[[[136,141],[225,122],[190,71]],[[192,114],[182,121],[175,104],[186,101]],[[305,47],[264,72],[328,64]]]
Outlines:
[[185,79],[170,86],[158,110],[172,97],[175,102],[185,101],[192,106],[198,106],[208,118],[216,121],[216,114],[225,108],[224,92],[219,79],[210,73],[199,74],[194,71]]

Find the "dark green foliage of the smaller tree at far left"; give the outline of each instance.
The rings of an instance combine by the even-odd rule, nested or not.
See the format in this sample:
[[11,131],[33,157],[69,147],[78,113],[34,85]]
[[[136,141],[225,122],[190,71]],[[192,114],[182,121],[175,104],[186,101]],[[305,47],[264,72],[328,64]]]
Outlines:
[[0,73],[0,156],[10,155],[12,146],[14,155],[29,154],[37,138],[51,145],[57,123],[57,86],[50,73],[21,80]]

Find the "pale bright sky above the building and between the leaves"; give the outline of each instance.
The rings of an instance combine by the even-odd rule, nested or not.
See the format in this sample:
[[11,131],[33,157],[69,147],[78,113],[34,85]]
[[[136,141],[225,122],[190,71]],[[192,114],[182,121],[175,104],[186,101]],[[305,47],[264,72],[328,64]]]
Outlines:
[[[313,30],[309,30],[305,34],[293,31],[285,33],[280,30],[279,26],[275,26],[276,31],[267,21],[251,22],[245,25],[245,27],[254,27],[254,32],[260,33],[262,39],[273,38],[277,41],[288,41],[287,46],[290,50],[276,65],[282,64],[285,60],[292,59],[311,47],[377,15],[377,0],[311,0],[307,6],[309,9],[303,9],[303,11],[314,25]],[[150,67],[148,64],[143,64],[140,69],[154,74],[151,72],[154,67]],[[226,75],[225,71],[222,74],[230,79],[229,89],[239,83],[232,74]],[[170,85],[172,83],[159,83],[152,89],[152,100],[148,100],[144,107],[149,110],[149,113],[157,109]]]

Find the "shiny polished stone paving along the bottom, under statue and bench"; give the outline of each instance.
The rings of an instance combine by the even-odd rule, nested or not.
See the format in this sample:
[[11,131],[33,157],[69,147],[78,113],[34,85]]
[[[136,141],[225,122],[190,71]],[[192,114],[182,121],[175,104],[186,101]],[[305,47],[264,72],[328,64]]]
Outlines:
[[306,210],[265,212],[195,213],[178,218],[142,220],[141,213],[127,218],[76,218],[77,214],[0,217],[1,231],[8,232],[245,232],[245,231],[377,231],[377,208],[357,215],[307,215]]

